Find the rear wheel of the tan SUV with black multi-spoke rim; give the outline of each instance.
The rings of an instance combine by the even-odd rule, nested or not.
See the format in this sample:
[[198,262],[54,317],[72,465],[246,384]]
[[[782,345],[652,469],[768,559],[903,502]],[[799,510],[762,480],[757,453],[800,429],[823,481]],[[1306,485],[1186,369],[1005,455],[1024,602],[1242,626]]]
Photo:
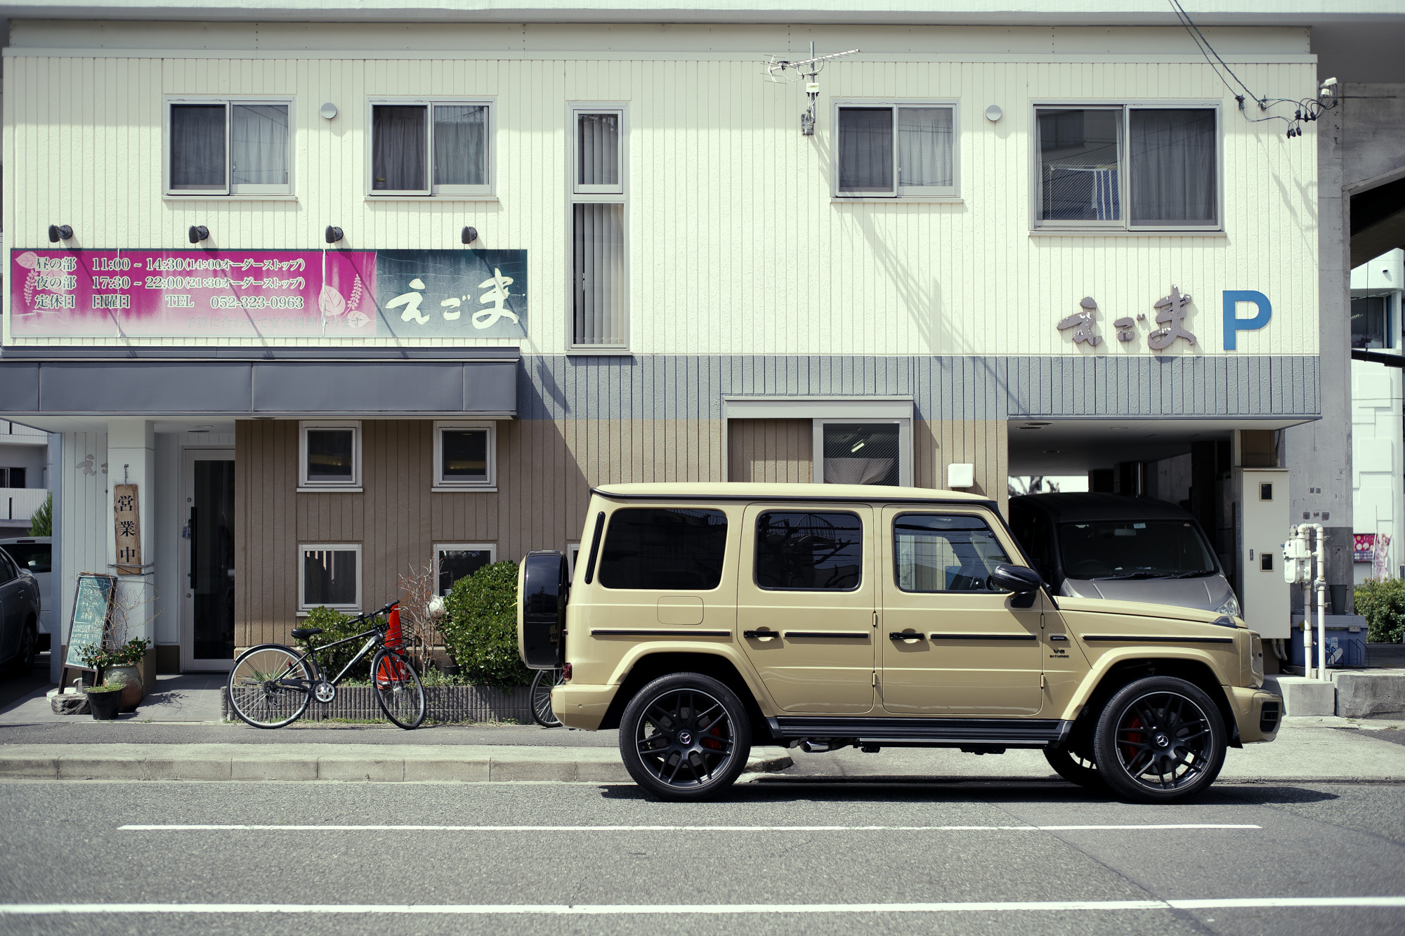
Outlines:
[[625,770],[658,800],[708,800],[746,767],[752,722],[731,689],[701,673],[660,676],[620,718]]

